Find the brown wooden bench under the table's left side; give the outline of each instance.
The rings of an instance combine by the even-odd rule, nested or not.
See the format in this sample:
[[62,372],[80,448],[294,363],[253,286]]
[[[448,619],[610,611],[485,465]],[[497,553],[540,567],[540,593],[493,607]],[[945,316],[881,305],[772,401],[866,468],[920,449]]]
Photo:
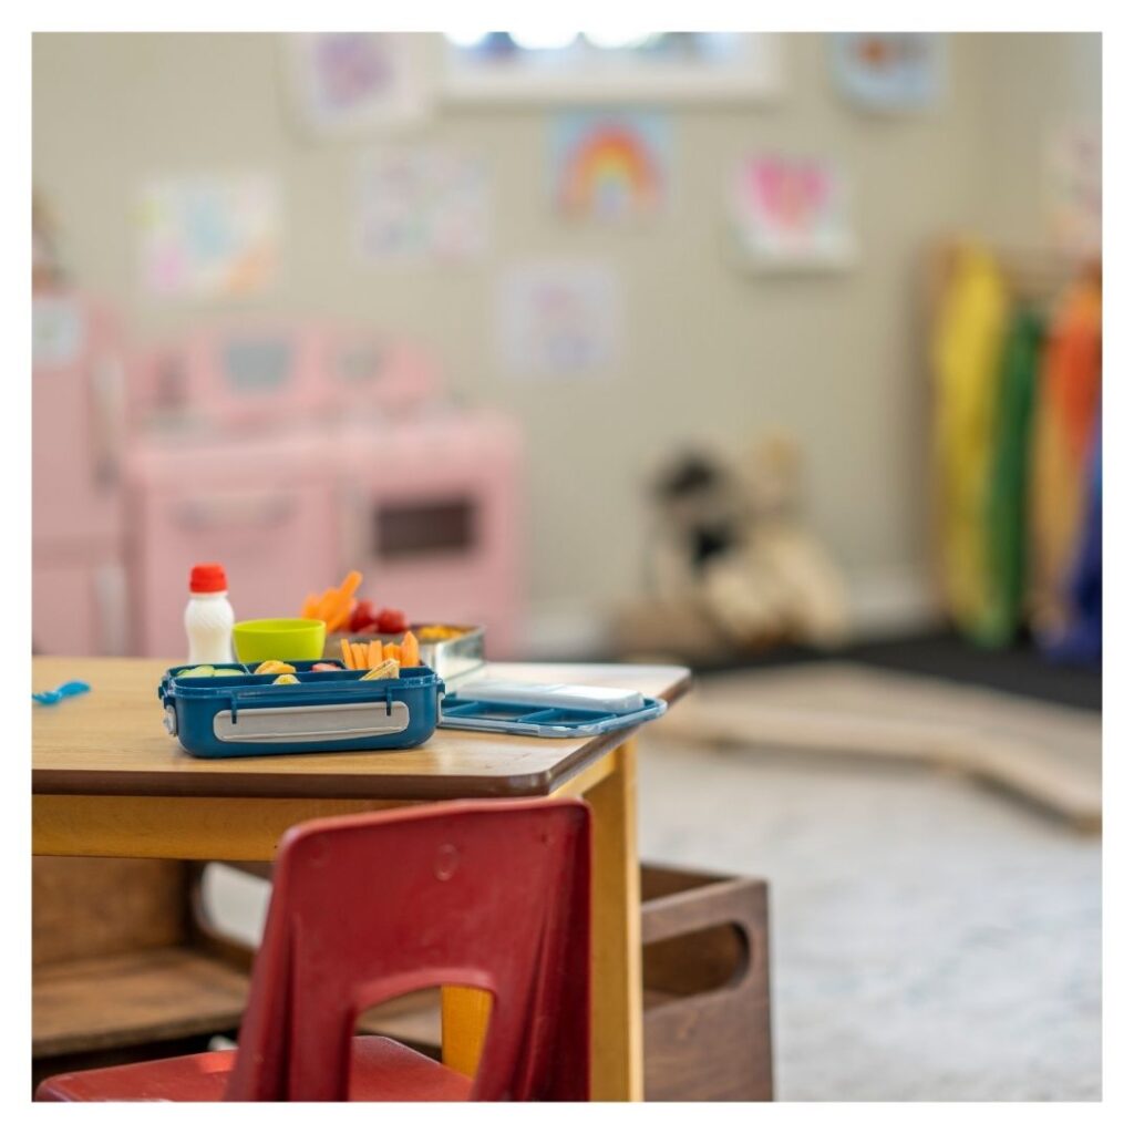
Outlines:
[[203,865],[32,860],[32,1075],[203,1050],[252,958],[209,922]]

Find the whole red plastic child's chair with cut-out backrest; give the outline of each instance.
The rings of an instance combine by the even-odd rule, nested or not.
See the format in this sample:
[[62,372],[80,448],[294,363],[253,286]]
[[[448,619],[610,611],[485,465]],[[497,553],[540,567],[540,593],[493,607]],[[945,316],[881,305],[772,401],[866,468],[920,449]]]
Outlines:
[[[590,819],[544,799],[293,828],[238,1049],[57,1075],[36,1099],[586,1099]],[[475,1081],[354,1036],[364,1009],[445,984],[493,998]]]

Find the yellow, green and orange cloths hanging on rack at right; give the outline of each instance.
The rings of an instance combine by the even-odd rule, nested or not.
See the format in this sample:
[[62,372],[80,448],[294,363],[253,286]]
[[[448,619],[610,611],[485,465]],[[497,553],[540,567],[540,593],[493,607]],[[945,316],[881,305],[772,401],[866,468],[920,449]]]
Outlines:
[[928,279],[945,606],[984,645],[1008,644],[1024,623],[1042,638],[1067,620],[1080,434],[1084,413],[1097,413],[1101,262],[945,240]]

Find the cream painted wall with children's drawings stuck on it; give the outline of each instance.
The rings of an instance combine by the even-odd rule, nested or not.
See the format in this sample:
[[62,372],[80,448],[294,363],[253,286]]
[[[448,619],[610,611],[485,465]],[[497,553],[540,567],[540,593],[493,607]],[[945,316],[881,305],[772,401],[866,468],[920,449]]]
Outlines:
[[[1031,204],[1017,213],[1010,197],[989,192],[1006,162],[1015,178],[1004,186],[1026,188],[1027,163],[993,151],[1015,137],[1017,118],[1039,121],[1069,98],[1052,69],[1078,76],[1068,81],[1075,91],[1091,88],[1090,53],[1066,39],[1042,50],[1023,36],[996,39],[953,37],[945,104],[892,118],[839,99],[820,36],[786,37],[777,100],[675,110],[675,212],[632,230],[566,225],[551,213],[544,112],[447,110],[405,143],[460,145],[491,160],[493,249],[462,270],[375,271],[354,261],[358,146],[305,139],[293,127],[271,35],[37,35],[34,176],[78,280],[118,302],[145,337],[203,312],[154,304],[136,289],[129,213],[139,181],[274,171],[288,243],[279,288],[261,306],[400,329],[438,352],[455,390],[525,423],[538,625],[578,627],[636,586],[642,486],[660,457],[689,435],[743,446],[773,425],[803,442],[811,516],[860,608],[885,613],[903,596],[916,599],[926,555],[920,254],[973,221],[1031,225]],[[1033,67],[1051,82],[1046,99],[1036,98]],[[1025,150],[1033,143],[1032,134],[1017,138]],[[756,278],[729,265],[722,177],[753,146],[845,162],[862,245],[854,270]],[[517,382],[497,362],[494,282],[513,263],[564,256],[607,261],[621,273],[624,357],[586,383]]]

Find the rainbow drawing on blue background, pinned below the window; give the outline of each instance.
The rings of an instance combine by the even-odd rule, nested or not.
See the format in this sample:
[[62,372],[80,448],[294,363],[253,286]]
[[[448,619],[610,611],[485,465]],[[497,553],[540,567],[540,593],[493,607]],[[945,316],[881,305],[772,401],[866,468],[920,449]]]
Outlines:
[[551,134],[556,208],[568,217],[621,221],[653,215],[669,200],[665,118],[646,112],[574,112]]

